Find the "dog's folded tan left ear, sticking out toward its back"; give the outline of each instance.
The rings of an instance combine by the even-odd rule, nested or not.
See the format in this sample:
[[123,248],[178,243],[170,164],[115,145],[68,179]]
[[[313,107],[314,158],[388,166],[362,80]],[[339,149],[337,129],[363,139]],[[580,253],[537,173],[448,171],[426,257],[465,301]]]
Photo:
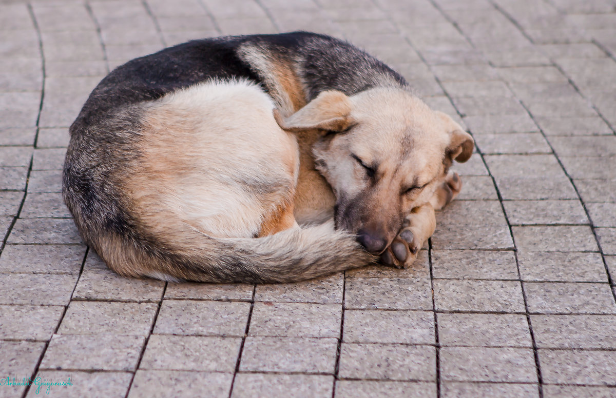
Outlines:
[[354,124],[349,97],[336,90],[321,92],[304,108],[286,118],[274,109],[274,119],[280,128],[291,132],[311,129],[341,132]]

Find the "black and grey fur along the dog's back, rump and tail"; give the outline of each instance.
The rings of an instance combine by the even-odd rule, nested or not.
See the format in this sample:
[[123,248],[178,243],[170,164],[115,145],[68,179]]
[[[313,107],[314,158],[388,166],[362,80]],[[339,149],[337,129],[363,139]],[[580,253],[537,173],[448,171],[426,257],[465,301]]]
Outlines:
[[[335,89],[352,95],[370,87],[406,84],[402,76],[351,44],[306,32],[195,40],[119,66],[92,91],[71,125],[63,172],[63,196],[76,225],[86,244],[94,247],[108,265],[113,267],[110,263],[114,260],[110,256],[104,258],[105,252],[113,241],[120,241],[122,250],[134,252],[132,258],[136,261],[152,262],[153,269],[161,273],[170,267],[184,267],[175,275],[198,281],[292,281],[350,268],[354,261],[359,261],[355,265],[361,265],[372,259],[358,249],[348,258],[339,259],[340,264],[333,264],[326,257],[309,259],[317,266],[307,269],[301,253],[282,258],[277,258],[275,253],[261,253],[255,255],[261,256],[261,260],[253,258],[251,265],[238,256],[251,258],[251,253],[259,249],[249,245],[250,250],[243,252],[244,246],[235,241],[227,244],[210,241],[210,250],[225,252],[217,258],[178,254],[181,250],[170,248],[169,242],[161,242],[160,237],[148,236],[140,228],[139,220],[131,216],[129,198],[118,186],[123,173],[130,172],[127,167],[139,161],[138,143],[145,139],[140,134],[142,115],[137,105],[209,79],[244,78],[273,93],[264,76],[267,71],[242,56],[240,49],[246,48],[270,54],[290,65],[306,90],[302,93],[306,101],[323,90]],[[351,239],[347,239],[347,250],[357,246]],[[320,242],[326,244],[325,239]],[[267,264],[277,260],[287,264],[267,269]],[[211,267],[201,264],[203,261],[210,261]],[[285,274],[284,270],[294,267],[296,271]]]

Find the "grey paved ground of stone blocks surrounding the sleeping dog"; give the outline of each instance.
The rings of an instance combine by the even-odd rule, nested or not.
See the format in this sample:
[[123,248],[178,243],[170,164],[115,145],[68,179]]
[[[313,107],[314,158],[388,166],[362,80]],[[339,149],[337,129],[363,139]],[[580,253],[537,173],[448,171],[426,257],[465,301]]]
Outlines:
[[[0,0],[0,384],[70,376],[51,387],[62,397],[615,397],[615,11]],[[429,250],[407,271],[292,285],[108,271],[59,194],[67,126],[90,90],[186,39],[299,29],[378,55],[476,138]],[[36,392],[0,385],[0,397]]]

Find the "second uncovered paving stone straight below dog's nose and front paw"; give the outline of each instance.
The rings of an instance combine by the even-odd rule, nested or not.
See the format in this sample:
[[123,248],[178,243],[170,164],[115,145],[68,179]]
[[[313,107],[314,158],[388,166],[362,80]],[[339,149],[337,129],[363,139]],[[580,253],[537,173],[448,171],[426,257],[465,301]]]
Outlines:
[[347,343],[434,344],[434,315],[423,311],[344,312]]

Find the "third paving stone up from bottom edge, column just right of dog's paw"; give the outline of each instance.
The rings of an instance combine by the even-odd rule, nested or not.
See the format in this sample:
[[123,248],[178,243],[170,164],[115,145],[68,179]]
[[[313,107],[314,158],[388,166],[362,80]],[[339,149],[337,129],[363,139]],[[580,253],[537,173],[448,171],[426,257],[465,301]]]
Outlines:
[[437,314],[437,320],[441,346],[532,346],[524,315]]

